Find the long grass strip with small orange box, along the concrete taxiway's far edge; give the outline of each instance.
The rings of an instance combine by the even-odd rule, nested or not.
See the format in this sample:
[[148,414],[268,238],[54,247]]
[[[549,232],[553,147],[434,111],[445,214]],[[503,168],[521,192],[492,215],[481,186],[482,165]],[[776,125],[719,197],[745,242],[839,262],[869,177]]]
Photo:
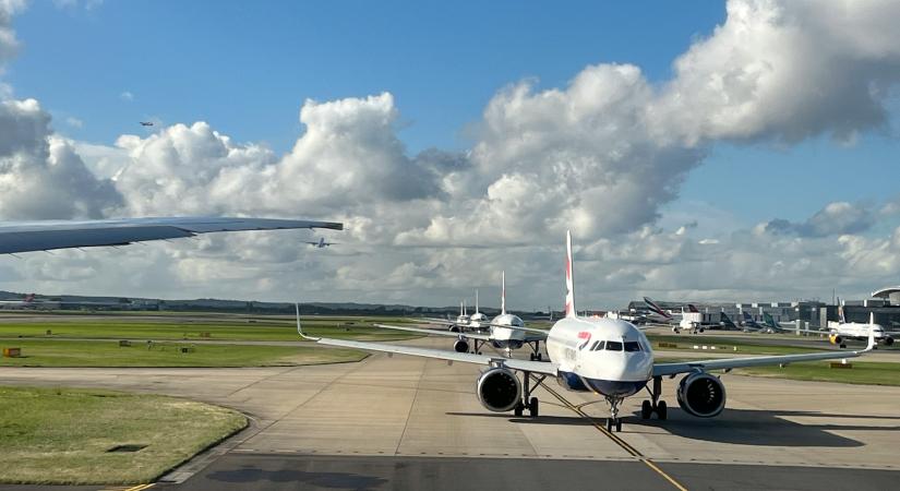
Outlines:
[[[0,347],[22,348],[21,358],[0,358],[0,367],[262,367],[359,361],[363,351],[321,346],[255,346],[190,343],[14,339]],[[193,352],[181,352],[193,347]]]

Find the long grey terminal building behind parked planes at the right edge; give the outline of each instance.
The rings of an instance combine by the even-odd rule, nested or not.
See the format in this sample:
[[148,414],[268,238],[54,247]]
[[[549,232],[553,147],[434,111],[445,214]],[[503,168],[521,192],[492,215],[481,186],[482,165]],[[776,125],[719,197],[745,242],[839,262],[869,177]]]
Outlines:
[[[687,310],[687,304],[682,302],[658,302],[663,309],[679,312],[682,307]],[[732,321],[737,323],[748,313],[754,321],[763,323],[763,315],[769,314],[780,323],[801,322],[807,328],[827,330],[829,322],[838,322],[838,306],[828,304],[821,301],[792,301],[792,302],[735,302],[735,303],[694,303],[703,314],[705,324],[718,324],[722,320],[724,312]],[[632,301],[628,309],[636,312],[647,310],[644,301]],[[887,330],[895,330],[900,326],[900,286],[881,288],[872,292],[872,298],[864,300],[844,301],[844,318],[847,322],[866,323],[872,313],[875,314],[875,323],[885,326]],[[795,325],[795,324],[794,324]],[[791,326],[785,326],[790,328]],[[712,327],[715,328],[715,327]]]

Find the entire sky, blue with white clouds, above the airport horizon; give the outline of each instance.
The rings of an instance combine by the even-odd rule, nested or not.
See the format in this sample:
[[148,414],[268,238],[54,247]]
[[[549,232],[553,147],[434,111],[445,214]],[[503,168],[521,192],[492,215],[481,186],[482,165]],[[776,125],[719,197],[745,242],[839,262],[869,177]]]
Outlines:
[[0,289],[493,304],[505,270],[543,308],[571,228],[586,307],[864,297],[900,283],[899,11],[0,0],[0,219],[348,225],[0,258]]

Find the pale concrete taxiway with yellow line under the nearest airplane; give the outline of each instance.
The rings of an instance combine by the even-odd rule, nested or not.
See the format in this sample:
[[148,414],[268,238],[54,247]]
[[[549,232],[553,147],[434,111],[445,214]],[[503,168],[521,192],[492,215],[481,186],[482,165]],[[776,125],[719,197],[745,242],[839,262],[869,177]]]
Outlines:
[[[407,343],[447,348],[445,339]],[[640,397],[623,408],[615,435],[635,455],[573,410],[602,420],[608,409],[596,396],[550,383],[564,402],[538,390],[539,418],[492,414],[473,394],[477,374],[464,363],[375,355],[261,369],[4,368],[0,383],[163,393],[253,418],[224,447],[167,476],[165,487],[176,489],[557,488],[542,480],[550,475],[573,489],[604,479],[621,489],[885,489],[900,478],[900,387],[729,374],[725,411],[698,419],[677,408],[677,380],[667,380],[668,421],[635,416]],[[375,480],[359,488],[343,475]]]

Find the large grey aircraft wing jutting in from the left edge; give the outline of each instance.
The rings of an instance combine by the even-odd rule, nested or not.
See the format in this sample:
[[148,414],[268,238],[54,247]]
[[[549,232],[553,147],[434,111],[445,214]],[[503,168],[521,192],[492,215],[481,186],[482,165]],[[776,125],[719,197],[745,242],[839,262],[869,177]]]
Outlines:
[[105,220],[0,221],[0,254],[50,249],[127,246],[200,233],[290,228],[343,230],[334,221],[272,218],[164,217]]

